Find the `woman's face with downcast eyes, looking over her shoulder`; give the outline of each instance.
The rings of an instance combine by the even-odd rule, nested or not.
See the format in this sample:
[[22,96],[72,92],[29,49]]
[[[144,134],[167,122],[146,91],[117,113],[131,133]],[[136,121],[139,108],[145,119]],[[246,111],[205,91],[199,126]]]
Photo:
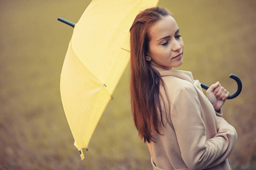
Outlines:
[[182,65],[184,44],[179,27],[172,16],[164,16],[149,29],[146,60],[152,65],[171,70]]

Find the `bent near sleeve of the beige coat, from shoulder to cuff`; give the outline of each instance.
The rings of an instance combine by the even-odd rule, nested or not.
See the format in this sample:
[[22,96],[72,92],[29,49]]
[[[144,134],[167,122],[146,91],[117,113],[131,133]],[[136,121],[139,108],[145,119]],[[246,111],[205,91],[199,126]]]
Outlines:
[[200,101],[194,87],[182,87],[172,103],[171,121],[181,156],[189,169],[204,169],[224,162],[233,150],[236,130],[228,122],[219,125],[218,133],[207,140],[201,118]]

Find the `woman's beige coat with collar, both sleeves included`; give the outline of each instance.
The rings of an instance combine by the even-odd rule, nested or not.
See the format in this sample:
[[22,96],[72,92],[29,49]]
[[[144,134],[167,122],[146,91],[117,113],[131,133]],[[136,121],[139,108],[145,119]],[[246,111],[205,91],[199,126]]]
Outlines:
[[[237,140],[236,129],[218,124],[212,104],[191,72],[159,71],[171,103],[171,115],[148,143],[154,169],[232,169],[228,156]],[[163,91],[163,88],[160,88]],[[167,102],[167,101],[164,101]],[[168,113],[168,112],[167,112]]]

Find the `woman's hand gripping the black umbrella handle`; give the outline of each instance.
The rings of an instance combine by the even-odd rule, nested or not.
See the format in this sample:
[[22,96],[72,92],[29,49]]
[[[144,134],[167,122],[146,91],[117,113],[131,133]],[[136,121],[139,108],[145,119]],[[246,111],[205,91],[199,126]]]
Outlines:
[[207,98],[212,103],[214,110],[216,112],[220,111],[226,98],[229,96],[229,92],[219,82],[212,84],[206,92]]

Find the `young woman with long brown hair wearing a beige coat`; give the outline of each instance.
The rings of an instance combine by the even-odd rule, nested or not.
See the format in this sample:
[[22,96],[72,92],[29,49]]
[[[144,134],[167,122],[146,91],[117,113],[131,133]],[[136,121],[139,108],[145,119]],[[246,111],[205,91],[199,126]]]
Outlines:
[[229,96],[220,83],[207,97],[183,63],[184,44],[164,8],[142,11],[130,28],[131,107],[154,169],[232,169],[233,126],[220,117]]

